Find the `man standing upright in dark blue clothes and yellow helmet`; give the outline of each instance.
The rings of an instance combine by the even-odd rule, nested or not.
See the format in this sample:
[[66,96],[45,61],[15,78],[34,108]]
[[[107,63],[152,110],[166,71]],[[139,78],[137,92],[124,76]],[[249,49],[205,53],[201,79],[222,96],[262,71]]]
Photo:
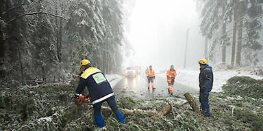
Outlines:
[[212,67],[208,66],[208,61],[206,59],[200,59],[199,65],[199,101],[201,103],[200,108],[205,116],[210,116],[208,97],[213,87],[214,75],[212,72]]

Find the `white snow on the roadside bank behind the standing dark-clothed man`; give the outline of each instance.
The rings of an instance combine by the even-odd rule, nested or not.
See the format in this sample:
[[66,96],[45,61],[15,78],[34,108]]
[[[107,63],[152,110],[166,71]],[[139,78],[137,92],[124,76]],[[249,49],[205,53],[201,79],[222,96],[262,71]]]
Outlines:
[[[175,81],[182,85],[188,85],[193,88],[199,89],[199,70],[186,70],[179,69],[177,70],[177,76],[175,77]],[[247,70],[218,70],[214,71],[214,85],[213,92],[223,91],[222,86],[226,84],[227,80],[233,76],[249,76],[255,79],[262,79],[263,76],[252,75]],[[158,76],[162,76],[166,78],[166,74],[159,74]]]

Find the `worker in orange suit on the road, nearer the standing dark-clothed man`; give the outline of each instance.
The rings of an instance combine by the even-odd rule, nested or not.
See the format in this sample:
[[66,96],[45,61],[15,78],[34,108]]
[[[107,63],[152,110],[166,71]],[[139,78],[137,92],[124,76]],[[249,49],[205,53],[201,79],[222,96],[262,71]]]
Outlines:
[[169,70],[166,72],[167,83],[168,83],[168,93],[173,95],[173,84],[175,83],[175,76],[177,75],[174,66],[172,65]]

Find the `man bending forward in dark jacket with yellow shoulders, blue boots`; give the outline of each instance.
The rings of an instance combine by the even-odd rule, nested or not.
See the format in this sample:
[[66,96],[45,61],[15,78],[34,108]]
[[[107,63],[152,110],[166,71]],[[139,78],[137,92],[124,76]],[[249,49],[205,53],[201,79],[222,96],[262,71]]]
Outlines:
[[87,59],[80,61],[80,70],[82,74],[79,78],[79,85],[75,92],[75,98],[82,96],[82,91],[84,91],[85,87],[88,87],[90,101],[92,102],[95,114],[95,121],[99,128],[103,128],[104,126],[101,116],[101,105],[105,101],[108,102],[118,121],[125,124],[123,114],[116,104],[112,87],[105,78],[103,72],[97,68],[91,67],[91,63]]

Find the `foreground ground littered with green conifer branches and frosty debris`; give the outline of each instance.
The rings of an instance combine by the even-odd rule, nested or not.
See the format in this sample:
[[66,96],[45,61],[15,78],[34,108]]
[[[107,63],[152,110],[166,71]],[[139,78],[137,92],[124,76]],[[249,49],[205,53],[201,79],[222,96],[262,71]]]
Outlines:
[[[211,117],[192,111],[183,94],[147,100],[116,98],[119,108],[160,111],[169,102],[173,110],[160,118],[125,115],[126,125],[112,113],[103,113],[105,128],[95,125],[92,107],[76,106],[75,87],[68,84],[12,87],[0,94],[0,130],[263,130],[263,80],[235,76],[223,92],[210,93]],[[198,96],[194,96],[199,105]],[[108,106],[104,104],[104,106]]]

